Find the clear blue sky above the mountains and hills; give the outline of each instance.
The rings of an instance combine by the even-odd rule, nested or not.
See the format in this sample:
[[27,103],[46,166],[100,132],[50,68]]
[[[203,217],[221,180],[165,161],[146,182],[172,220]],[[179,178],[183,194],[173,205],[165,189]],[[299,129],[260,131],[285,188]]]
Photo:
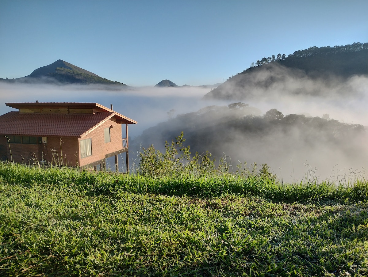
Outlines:
[[61,59],[131,86],[215,84],[272,54],[368,42],[361,0],[0,0],[0,77]]

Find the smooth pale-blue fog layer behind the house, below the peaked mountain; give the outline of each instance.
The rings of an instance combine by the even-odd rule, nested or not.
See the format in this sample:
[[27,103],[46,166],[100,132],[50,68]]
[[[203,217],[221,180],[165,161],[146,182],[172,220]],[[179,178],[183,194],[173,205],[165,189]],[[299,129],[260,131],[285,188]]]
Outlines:
[[[114,87],[113,87],[114,88]],[[178,113],[188,113],[206,106],[201,101],[208,89],[200,87],[154,88],[127,87],[122,90],[95,85],[7,84],[0,82],[0,114],[15,111],[5,103],[17,102],[91,102],[99,103],[124,116],[138,121],[129,125],[134,138],[148,127]]]

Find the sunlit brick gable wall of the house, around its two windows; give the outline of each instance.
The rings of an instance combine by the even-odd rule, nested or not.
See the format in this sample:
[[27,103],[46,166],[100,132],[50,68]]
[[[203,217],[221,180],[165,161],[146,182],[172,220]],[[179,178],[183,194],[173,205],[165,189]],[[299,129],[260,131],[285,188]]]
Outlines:
[[[110,128],[110,142],[105,143],[105,136],[103,133],[104,128]],[[121,124],[116,123],[114,118],[107,120],[105,123],[100,125],[98,128],[94,129],[92,132],[86,136],[79,139],[79,152],[80,155],[80,141],[83,139],[91,138],[92,141],[92,156],[84,157],[80,159],[80,166],[85,166],[86,164],[91,164],[96,161],[105,159],[106,154],[116,152],[123,149],[121,140]],[[123,125],[125,128],[125,125]]]

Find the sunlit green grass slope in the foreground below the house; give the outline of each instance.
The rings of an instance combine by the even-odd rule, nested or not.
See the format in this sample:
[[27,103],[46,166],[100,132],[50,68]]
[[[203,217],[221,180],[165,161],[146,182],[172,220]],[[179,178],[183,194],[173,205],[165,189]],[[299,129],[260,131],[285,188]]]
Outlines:
[[367,276],[367,194],[0,163],[0,276]]

